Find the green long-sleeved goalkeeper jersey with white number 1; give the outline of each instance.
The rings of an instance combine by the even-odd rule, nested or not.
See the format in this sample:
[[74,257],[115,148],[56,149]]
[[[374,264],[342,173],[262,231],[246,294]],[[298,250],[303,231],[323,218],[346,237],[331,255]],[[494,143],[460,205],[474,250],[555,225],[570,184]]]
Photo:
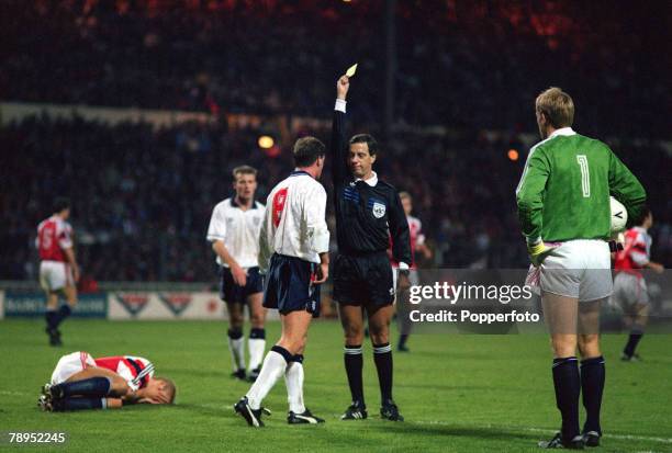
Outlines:
[[600,140],[571,127],[535,145],[516,189],[518,217],[528,242],[538,239],[608,239],[609,195],[639,217],[646,192],[637,178]]

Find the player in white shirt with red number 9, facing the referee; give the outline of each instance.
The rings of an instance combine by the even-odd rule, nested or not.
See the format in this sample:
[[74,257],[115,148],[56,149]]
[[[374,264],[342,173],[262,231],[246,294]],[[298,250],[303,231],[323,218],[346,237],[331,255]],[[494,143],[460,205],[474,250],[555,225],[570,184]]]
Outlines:
[[325,146],[314,137],[294,144],[294,170],[268,195],[259,237],[259,268],[266,274],[264,306],[280,313],[282,335],[266,354],[259,377],[234,406],[251,427],[262,427],[261,401],[280,376],[287,384],[290,424],[320,423],[303,404],[303,350],[320,314],[320,284],[329,269],[329,230],[322,175]]

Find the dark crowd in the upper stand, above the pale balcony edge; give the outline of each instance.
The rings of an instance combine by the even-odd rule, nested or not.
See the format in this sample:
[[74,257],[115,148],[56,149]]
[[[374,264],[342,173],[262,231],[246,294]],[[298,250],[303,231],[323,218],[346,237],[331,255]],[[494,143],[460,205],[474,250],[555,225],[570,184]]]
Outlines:
[[[656,2],[649,10],[396,3],[400,122],[519,128],[526,101],[552,83],[582,106],[586,134],[664,134],[669,59],[657,36],[670,31]],[[320,116],[331,98],[325,80],[359,61],[359,109],[367,122],[380,121],[382,0],[14,0],[2,8],[7,100]]]

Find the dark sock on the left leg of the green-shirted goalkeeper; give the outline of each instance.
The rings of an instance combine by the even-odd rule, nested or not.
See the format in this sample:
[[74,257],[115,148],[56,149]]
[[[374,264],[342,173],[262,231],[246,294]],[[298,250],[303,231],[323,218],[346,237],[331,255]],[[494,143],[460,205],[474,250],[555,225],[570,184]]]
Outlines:
[[553,359],[556,404],[562,415],[562,439],[567,442],[579,435],[579,394],[581,377],[575,356]]

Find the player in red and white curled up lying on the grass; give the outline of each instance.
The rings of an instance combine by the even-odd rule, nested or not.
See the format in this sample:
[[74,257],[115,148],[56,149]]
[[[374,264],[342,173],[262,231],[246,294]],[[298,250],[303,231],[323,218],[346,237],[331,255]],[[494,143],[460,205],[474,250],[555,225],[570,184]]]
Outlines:
[[130,404],[172,404],[175,394],[172,381],[154,377],[154,365],[147,359],[93,359],[78,351],[60,358],[37,404],[49,412],[112,409]]

